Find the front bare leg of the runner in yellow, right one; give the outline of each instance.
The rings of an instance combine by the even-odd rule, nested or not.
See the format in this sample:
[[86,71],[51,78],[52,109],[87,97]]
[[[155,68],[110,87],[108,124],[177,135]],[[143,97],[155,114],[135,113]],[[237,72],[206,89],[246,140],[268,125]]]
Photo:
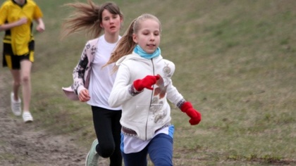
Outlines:
[[29,112],[31,101],[31,68],[30,60],[22,60],[20,62],[20,79],[22,82],[23,91],[23,110]]

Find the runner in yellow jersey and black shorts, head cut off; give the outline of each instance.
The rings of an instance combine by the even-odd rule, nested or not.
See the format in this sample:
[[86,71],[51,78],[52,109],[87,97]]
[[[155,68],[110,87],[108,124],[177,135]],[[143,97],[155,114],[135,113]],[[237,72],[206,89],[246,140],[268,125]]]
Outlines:
[[38,32],[45,30],[42,16],[39,6],[32,0],[6,0],[0,8],[0,32],[5,31],[3,66],[8,67],[13,75],[11,110],[14,115],[22,115],[18,95],[22,85],[24,122],[33,121],[30,113],[30,72],[34,62],[35,46],[32,27],[35,21]]

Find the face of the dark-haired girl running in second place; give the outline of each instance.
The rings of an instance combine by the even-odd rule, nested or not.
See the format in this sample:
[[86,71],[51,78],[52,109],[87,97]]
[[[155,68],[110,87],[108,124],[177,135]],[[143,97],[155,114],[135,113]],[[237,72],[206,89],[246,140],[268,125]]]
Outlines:
[[104,9],[101,13],[100,26],[104,29],[105,34],[116,34],[121,30],[121,23],[123,18],[118,14],[112,14],[108,10]]

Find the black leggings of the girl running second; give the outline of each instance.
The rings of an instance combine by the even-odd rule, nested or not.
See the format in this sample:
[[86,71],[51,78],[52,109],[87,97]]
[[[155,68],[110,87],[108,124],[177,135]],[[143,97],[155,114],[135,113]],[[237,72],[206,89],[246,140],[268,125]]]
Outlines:
[[92,106],[92,120],[99,141],[97,153],[103,158],[110,158],[110,166],[121,166],[121,110]]

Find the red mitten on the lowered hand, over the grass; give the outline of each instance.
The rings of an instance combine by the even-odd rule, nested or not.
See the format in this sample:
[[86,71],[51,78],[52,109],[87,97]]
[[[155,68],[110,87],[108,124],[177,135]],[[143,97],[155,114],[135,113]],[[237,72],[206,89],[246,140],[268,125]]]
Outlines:
[[186,113],[191,119],[189,120],[191,125],[197,125],[202,120],[202,115],[192,107],[192,104],[188,101],[183,103],[180,108],[183,113]]

